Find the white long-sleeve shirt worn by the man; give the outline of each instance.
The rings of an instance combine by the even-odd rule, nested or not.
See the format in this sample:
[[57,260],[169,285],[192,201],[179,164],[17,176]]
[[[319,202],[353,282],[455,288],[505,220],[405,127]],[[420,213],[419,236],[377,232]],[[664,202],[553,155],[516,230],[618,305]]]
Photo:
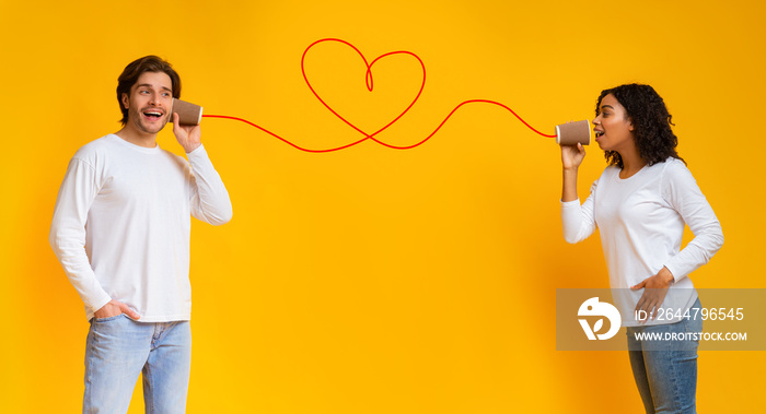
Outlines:
[[111,299],[142,322],[190,319],[190,216],[219,225],[232,208],[205,147],[187,157],[108,134],[70,161],[49,241],[89,320]]

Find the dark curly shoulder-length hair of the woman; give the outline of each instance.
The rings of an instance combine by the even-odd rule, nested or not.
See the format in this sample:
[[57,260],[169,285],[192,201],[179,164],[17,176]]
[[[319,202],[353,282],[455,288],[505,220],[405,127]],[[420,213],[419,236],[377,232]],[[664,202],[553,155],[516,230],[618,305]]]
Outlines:
[[[601,100],[608,94],[623,105],[632,121],[638,154],[647,165],[662,163],[668,157],[684,161],[675,151],[678,138],[671,129],[671,126],[675,126],[672,122],[673,116],[668,113],[665,102],[653,87],[631,83],[601,91],[595,104],[596,116],[600,114]],[[606,151],[604,156],[608,165],[624,167],[623,157],[616,151]]]

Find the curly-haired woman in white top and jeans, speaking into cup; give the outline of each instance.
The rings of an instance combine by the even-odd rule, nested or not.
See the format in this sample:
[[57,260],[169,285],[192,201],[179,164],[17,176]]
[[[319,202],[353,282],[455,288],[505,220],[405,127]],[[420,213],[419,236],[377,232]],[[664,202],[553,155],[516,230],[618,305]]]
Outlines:
[[[585,151],[561,146],[564,237],[578,243],[599,227],[647,413],[696,412],[698,338],[683,333],[703,327],[688,274],[723,244],[716,214],[675,150],[671,118],[649,85],[603,91],[593,131],[608,165],[582,205],[577,175]],[[695,238],[682,250],[685,224]],[[640,311],[649,317],[636,319]],[[641,332],[676,340],[641,342]]]

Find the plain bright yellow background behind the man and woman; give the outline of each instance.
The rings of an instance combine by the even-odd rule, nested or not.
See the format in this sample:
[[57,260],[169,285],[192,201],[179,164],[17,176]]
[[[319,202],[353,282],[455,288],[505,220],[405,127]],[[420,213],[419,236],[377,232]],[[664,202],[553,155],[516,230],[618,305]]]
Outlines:
[[[758,1],[2,0],[0,411],[80,410],[88,323],[47,235],[71,155],[119,128],[129,61],[160,55],[206,114],[309,147],[361,138],[303,82],[301,54],[324,37],[369,60],[423,59],[421,98],[379,137],[399,145],[465,99],[553,133],[591,119],[602,88],[652,84],[727,237],[695,283],[764,287],[763,16]],[[306,68],[368,130],[418,80],[411,59],[386,58],[365,96],[359,59],[333,45]],[[189,413],[642,412],[625,353],[555,351],[555,289],[607,276],[597,237],[561,238],[550,139],[480,104],[409,151],[309,154],[244,123],[202,126],[234,218],[193,227]],[[159,141],[179,152],[170,131]],[[581,197],[604,167],[588,152]],[[701,352],[699,411],[759,410],[765,362]]]

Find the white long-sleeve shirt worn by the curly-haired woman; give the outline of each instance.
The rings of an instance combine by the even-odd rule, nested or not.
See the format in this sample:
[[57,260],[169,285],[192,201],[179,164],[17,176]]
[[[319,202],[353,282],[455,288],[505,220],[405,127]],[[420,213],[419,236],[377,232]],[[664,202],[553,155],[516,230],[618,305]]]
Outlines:
[[[626,179],[619,178],[619,171],[615,166],[606,167],[582,205],[579,200],[561,202],[564,238],[578,243],[599,228],[610,286],[623,326],[637,326],[634,309],[643,293],[643,289],[630,291],[630,286],[657,274],[663,267],[673,273],[674,283],[662,308],[683,315],[697,299],[687,276],[721,248],[721,225],[682,161],[671,157]],[[682,250],[684,224],[695,237]],[[647,324],[680,320],[671,318]]]

